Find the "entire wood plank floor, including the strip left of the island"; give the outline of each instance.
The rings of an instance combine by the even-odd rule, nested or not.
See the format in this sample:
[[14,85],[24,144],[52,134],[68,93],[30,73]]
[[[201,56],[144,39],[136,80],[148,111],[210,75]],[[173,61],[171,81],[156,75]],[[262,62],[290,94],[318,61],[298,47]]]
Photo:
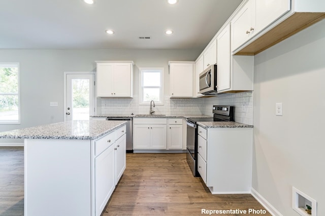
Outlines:
[[[2,216],[23,215],[23,160],[22,147],[0,147]],[[249,194],[212,195],[201,178],[193,177],[185,154],[127,154],[126,170],[102,215],[203,215],[201,209],[248,208],[265,209]]]

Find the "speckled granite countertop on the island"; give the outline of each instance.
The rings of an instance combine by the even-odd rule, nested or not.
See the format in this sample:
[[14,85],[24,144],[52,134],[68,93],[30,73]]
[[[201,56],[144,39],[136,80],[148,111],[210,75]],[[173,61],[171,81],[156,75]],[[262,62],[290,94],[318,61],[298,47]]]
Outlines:
[[67,121],[0,132],[0,138],[97,139],[124,123],[125,121]]

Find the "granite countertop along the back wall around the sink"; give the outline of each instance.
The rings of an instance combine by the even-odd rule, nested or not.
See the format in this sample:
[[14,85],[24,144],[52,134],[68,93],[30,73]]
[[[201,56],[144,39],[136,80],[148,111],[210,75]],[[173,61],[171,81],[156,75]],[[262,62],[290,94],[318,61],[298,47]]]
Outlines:
[[120,117],[120,118],[212,118],[211,116],[207,115],[173,115],[173,114],[168,114],[168,115],[147,115],[147,114],[137,114],[137,115],[108,115],[108,114],[100,114],[100,115],[95,115],[95,116],[90,116],[90,117]]

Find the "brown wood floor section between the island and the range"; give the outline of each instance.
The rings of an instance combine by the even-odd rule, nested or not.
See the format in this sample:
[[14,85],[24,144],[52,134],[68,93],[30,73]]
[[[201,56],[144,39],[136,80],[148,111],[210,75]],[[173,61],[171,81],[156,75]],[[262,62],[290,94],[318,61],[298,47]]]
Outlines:
[[102,215],[202,215],[201,209],[249,208],[265,210],[250,194],[212,195],[192,175],[186,154],[127,154],[124,174]]

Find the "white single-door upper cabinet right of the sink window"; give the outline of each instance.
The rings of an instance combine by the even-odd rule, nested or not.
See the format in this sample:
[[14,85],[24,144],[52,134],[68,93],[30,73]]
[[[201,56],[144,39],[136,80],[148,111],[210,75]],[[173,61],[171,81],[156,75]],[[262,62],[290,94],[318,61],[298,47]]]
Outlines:
[[171,97],[193,97],[194,62],[170,61]]

